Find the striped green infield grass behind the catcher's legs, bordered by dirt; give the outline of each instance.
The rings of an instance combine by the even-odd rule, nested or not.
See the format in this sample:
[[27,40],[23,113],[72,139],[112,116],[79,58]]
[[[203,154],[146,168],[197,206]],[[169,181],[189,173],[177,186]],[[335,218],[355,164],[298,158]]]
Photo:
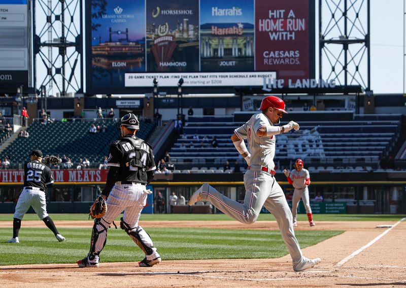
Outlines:
[[[54,217],[57,218],[57,217]],[[7,243],[12,229],[0,229],[0,265],[76,263],[87,255],[90,228],[60,228],[58,242],[48,228],[20,230],[20,243]],[[162,260],[279,258],[288,253],[279,231],[148,228]],[[315,245],[342,231],[297,231],[300,247]],[[101,262],[138,262],[144,252],[121,229],[109,229]]]

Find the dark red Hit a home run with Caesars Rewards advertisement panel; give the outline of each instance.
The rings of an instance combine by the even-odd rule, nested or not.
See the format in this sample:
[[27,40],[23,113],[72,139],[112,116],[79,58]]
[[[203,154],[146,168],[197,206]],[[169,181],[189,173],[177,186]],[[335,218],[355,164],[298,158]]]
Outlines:
[[277,71],[285,80],[311,78],[309,1],[255,0],[256,71]]

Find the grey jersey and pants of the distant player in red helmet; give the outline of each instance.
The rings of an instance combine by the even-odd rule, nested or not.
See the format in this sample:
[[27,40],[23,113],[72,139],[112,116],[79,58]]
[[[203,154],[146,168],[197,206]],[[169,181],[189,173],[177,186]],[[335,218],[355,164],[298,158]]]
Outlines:
[[303,201],[306,213],[312,213],[312,208],[310,208],[309,200],[309,188],[306,185],[306,179],[310,179],[310,173],[308,170],[302,168],[300,171],[293,169],[289,173],[289,178],[292,180],[292,185],[295,188],[292,197],[292,215],[293,223],[296,222],[297,206],[299,204],[300,198]]

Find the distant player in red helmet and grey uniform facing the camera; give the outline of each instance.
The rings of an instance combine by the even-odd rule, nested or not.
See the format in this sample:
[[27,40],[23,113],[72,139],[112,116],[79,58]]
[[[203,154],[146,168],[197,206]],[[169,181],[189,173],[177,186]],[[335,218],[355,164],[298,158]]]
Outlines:
[[297,226],[296,214],[300,198],[306,209],[310,226],[316,226],[316,223],[313,221],[312,208],[310,208],[309,200],[308,186],[310,185],[310,174],[308,170],[303,168],[303,160],[297,159],[295,162],[295,169],[290,172],[285,169],[283,172],[285,173],[286,178],[288,178],[289,184],[293,184],[293,187],[295,188],[292,197],[293,226]]

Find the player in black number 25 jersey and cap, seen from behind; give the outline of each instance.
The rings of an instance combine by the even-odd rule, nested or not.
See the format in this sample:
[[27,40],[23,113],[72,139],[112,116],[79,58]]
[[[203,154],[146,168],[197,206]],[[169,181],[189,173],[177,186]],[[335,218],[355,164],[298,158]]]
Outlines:
[[42,163],[42,156],[43,154],[40,150],[33,150],[30,154],[30,161],[24,164],[24,187],[14,212],[13,238],[8,241],[9,243],[20,243],[18,233],[21,228],[21,220],[30,206],[32,206],[38,217],[54,233],[59,242],[65,240],[65,237],[59,234],[54,221],[52,221],[47,213],[45,188],[52,186],[54,178],[51,169]]

